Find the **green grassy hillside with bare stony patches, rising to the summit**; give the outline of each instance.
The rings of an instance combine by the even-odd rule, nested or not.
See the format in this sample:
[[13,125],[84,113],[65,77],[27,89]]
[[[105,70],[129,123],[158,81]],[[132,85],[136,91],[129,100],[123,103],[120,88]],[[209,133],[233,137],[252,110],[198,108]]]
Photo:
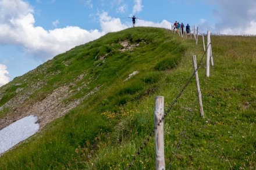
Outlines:
[[195,45],[147,27],[109,33],[15,78],[0,88],[1,120],[48,114],[40,132],[0,157],[0,169],[155,169],[154,97],[169,108],[193,74],[192,55],[203,61],[205,118],[193,78],[165,117],[166,169],[255,169],[256,37],[211,40],[208,78],[201,37]]

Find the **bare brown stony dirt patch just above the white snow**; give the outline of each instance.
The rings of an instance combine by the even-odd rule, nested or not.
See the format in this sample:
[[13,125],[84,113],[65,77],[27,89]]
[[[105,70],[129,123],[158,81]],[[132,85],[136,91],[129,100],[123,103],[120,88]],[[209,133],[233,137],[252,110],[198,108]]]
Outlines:
[[[83,75],[77,77],[77,81],[79,81],[82,77]],[[76,82],[72,82],[70,85],[74,84],[76,84]],[[0,130],[13,122],[20,120],[20,118],[26,117],[27,115],[36,115],[38,117],[40,129],[44,128],[44,126],[49,122],[67,114],[74,107],[78,106],[81,101],[87,99],[88,96],[93,95],[100,88],[100,86],[94,88],[79,99],[67,100],[64,102],[65,99],[79,93],[81,88],[86,88],[87,84],[88,82],[77,87],[76,91],[70,91],[70,85],[61,86],[56,88],[52,93],[49,93],[41,101],[32,104],[24,104],[24,101],[31,95],[32,92],[27,92],[13,98],[1,107],[1,109],[7,108],[11,111],[1,118]]]

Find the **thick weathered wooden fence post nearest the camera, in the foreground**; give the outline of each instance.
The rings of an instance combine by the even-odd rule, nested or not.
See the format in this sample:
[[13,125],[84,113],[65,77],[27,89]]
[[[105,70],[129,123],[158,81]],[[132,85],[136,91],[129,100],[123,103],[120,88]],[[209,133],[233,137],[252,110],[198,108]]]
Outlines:
[[165,153],[163,144],[163,117],[164,117],[164,100],[163,96],[155,97],[155,161],[156,169],[165,169]]

